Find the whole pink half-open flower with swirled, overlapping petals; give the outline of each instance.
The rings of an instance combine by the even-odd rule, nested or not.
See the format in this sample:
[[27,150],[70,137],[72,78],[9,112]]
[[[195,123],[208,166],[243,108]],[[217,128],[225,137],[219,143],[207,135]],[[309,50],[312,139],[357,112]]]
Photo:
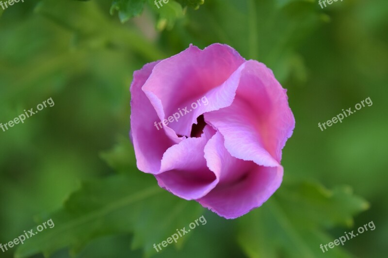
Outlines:
[[229,219],[280,186],[295,120],[286,90],[264,64],[227,45],[190,46],[136,71],[130,92],[137,167],[161,187]]

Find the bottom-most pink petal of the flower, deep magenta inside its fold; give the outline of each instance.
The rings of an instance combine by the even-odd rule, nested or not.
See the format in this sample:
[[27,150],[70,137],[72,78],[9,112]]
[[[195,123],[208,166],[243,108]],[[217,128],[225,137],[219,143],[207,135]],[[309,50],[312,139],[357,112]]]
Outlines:
[[236,218],[261,206],[280,186],[283,167],[263,167],[232,157],[217,132],[205,147],[208,167],[220,178],[217,186],[197,199],[225,218]]

